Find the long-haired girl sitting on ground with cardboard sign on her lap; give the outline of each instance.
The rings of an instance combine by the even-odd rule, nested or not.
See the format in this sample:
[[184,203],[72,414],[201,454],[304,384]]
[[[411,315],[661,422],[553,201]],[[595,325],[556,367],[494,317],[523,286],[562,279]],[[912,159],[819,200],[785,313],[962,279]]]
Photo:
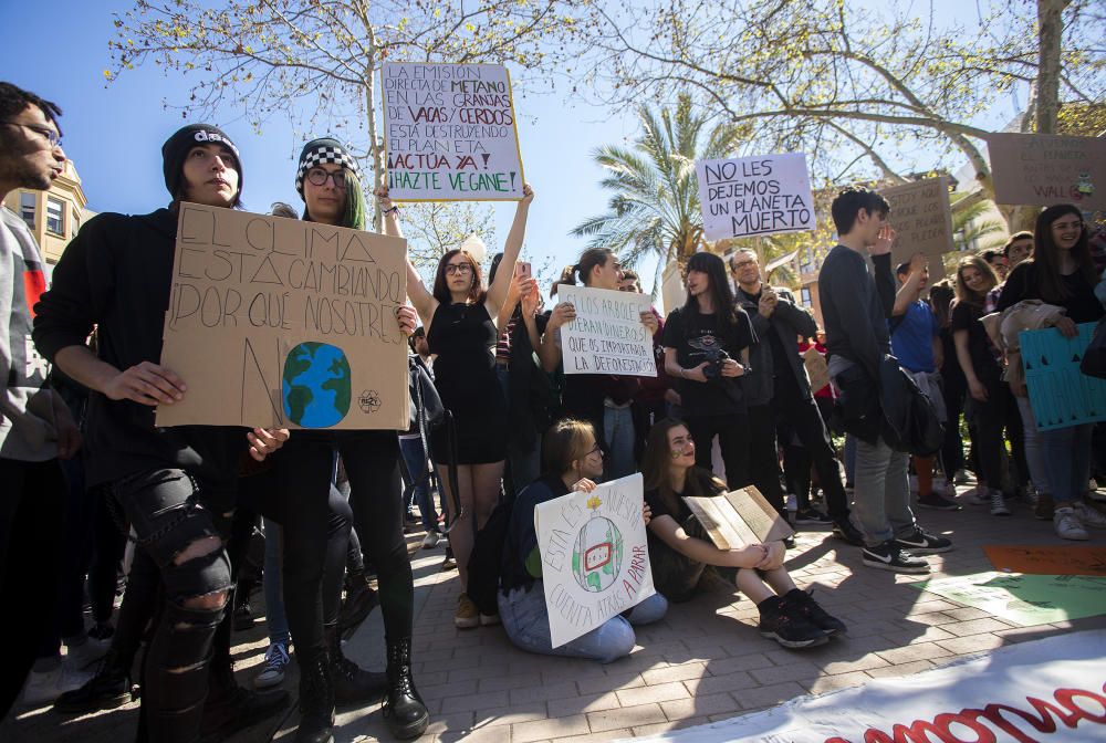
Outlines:
[[758,629],[785,648],[823,645],[845,631],[810,593],[795,587],[783,566],[783,542],[719,550],[691,514],[682,496],[711,496],[726,484],[695,463],[695,441],[681,421],[658,421],[646,442],[643,462],[653,583],[669,601],[691,598],[707,567],[752,599],[760,610]]

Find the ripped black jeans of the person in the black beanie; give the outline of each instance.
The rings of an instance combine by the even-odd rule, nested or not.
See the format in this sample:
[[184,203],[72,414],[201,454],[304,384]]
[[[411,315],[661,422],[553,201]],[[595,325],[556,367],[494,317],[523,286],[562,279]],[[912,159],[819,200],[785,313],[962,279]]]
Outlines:
[[[208,483],[182,470],[157,469],[118,480],[113,489],[137,548],[157,566],[164,586],[143,668],[148,737],[189,743],[199,737],[212,639],[233,586],[225,544],[234,481]],[[197,556],[181,561],[189,550]]]

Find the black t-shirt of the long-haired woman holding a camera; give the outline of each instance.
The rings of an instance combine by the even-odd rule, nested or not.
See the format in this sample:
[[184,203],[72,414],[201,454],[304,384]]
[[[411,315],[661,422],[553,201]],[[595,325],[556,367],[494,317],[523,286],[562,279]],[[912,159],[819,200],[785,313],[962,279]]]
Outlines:
[[[721,348],[740,362],[743,349],[757,342],[749,315],[734,308],[733,322],[722,323],[717,313],[695,313],[687,317],[678,307],[665,321],[665,348],[676,349],[676,359],[685,369],[691,369],[709,356],[710,348]],[[678,379],[681,407],[689,416],[727,416],[743,414],[744,400],[737,379],[718,378],[706,384]]]

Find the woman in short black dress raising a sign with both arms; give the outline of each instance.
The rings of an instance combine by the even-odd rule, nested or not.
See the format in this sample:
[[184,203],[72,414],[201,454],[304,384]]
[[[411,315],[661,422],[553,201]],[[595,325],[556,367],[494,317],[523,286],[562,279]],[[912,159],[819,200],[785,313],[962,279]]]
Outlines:
[[[422,278],[408,260],[407,296],[422,320],[434,362],[435,386],[441,402],[452,414],[457,442],[456,499],[449,492],[448,467],[451,453],[448,428],[435,431],[430,440],[434,460],[439,462],[440,482],[446,490],[446,510],[450,522],[459,521],[449,532],[449,545],[457,557],[461,595],[457,600],[453,624],[460,628],[495,624],[494,615],[482,615],[465,593],[469,585],[469,555],[476,531],[484,525],[499,500],[503,462],[507,459],[507,400],[495,377],[495,317],[514,280],[514,264],[526,233],[526,217],[534,191],[523,186],[523,198],[503,245],[503,260],[495,281],[487,291],[480,265],[463,250],[450,250],[438,262],[434,287],[428,291]],[[388,198],[387,187],[377,189],[384,210],[384,233],[403,237],[398,207]],[[459,502],[460,514],[452,513]],[[470,521],[476,516],[476,529]]]

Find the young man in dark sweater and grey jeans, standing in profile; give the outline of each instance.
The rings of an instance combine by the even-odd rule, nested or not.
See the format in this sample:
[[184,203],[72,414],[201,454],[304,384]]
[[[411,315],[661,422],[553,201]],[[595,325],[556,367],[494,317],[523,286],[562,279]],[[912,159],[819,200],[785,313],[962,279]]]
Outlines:
[[879,369],[890,354],[887,320],[895,304],[895,230],[886,221],[890,205],[875,191],[846,188],[831,210],[837,245],[822,263],[818,294],[830,376],[842,390],[846,430],[857,439],[853,512],[864,533],[863,561],[884,571],[928,573],[929,564],[911,553],[948,552],[952,543],[915,522],[909,456],[884,438],[879,402]]

